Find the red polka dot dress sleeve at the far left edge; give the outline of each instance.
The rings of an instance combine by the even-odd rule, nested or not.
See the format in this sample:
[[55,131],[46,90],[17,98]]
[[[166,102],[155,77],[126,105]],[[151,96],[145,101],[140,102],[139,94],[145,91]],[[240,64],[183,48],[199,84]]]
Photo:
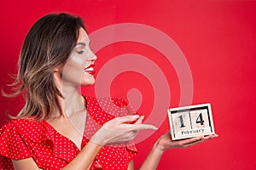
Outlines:
[[0,129],[0,154],[12,160],[31,157],[19,129],[12,122],[3,125]]

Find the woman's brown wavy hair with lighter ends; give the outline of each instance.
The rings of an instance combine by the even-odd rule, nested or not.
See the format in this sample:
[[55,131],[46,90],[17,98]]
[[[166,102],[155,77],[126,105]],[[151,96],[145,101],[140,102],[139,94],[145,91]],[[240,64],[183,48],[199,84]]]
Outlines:
[[53,72],[67,62],[78,41],[79,28],[84,28],[79,16],[61,13],[45,15],[28,31],[15,82],[10,84],[13,94],[2,91],[9,98],[25,94],[26,104],[11,118],[44,120],[55,111],[56,96],[62,95],[55,86]]

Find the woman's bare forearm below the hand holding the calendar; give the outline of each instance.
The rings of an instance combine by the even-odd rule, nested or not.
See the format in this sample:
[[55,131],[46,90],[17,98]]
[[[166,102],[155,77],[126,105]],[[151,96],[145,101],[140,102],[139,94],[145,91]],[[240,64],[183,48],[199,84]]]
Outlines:
[[156,142],[154,144],[152,150],[150,150],[150,152],[149,152],[147,158],[145,159],[145,161],[143,161],[143,164],[140,167],[140,170],[156,169],[163,153],[164,153],[164,150],[162,150],[160,148],[158,142]]

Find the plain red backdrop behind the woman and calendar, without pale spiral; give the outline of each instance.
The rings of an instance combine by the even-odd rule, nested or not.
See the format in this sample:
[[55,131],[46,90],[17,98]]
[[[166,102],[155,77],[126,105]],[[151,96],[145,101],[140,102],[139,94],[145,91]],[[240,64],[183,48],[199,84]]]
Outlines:
[[[2,1],[0,86],[11,82],[26,32],[39,17],[50,12],[69,12],[84,18],[87,30],[96,31],[117,23],[141,23],[164,31],[177,42],[185,54],[194,81],[192,104],[212,103],[212,114],[218,139],[187,149],[167,150],[158,169],[255,169],[255,60],[256,1]],[[157,37],[155,37],[157,38]],[[91,40],[93,42],[93,40]],[[118,54],[142,54],[161,66],[172,87],[172,102],[179,101],[177,76],[167,71],[160,54],[140,43],[119,42],[103,48],[96,69]],[[122,77],[123,81],[120,81]],[[140,75],[125,72],[113,81],[114,97],[125,98],[126,90],[137,86],[142,94],[152,94],[149,82]],[[134,81],[136,80],[136,81]],[[125,82],[126,81],[126,82]],[[144,85],[142,85],[142,83]],[[116,88],[123,85],[124,88]],[[130,87],[130,88],[131,88]],[[147,87],[147,88],[143,88]],[[124,91],[125,89],[125,91]],[[83,89],[94,95],[94,88]],[[1,99],[1,124],[4,113],[15,115],[23,102]],[[143,98],[144,99],[144,98]],[[140,112],[150,112],[152,100]],[[154,141],[169,130],[168,120],[150,138],[138,144],[135,167],[143,162]]]

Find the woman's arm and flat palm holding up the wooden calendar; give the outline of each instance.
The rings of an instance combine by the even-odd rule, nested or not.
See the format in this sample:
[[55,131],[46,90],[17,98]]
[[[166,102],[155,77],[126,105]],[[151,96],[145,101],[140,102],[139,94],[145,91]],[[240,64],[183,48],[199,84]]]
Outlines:
[[172,141],[170,133],[166,133],[157,140],[154,144],[152,150],[150,150],[148,157],[143,162],[143,165],[140,167],[140,170],[153,170],[156,169],[160,161],[161,156],[165,150],[173,148],[186,148],[195,144],[200,144],[207,139],[212,139],[218,137],[218,134],[208,135],[206,137],[200,136],[192,139],[183,139]]

